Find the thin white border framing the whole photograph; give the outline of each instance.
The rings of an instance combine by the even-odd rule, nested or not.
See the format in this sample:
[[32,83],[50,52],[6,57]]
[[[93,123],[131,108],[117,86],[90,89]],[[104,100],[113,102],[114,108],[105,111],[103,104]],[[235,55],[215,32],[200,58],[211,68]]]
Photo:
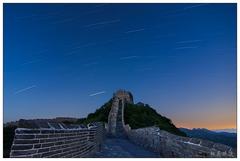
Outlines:
[[[1,34],[1,40],[0,40],[0,49],[1,49],[1,56],[0,56],[0,89],[2,90],[2,92],[0,92],[0,104],[1,104],[1,114],[0,114],[0,159],[3,159],[3,3],[238,3],[237,0],[197,0],[197,1],[191,1],[191,0],[3,0],[1,1],[1,7],[0,7],[0,21],[1,23],[1,27],[0,27],[0,34]],[[239,7],[239,3],[237,4]],[[239,10],[237,11],[237,26],[239,29]],[[237,38],[239,38],[239,32],[237,33]],[[237,41],[237,46],[240,46],[239,41]],[[240,62],[240,56],[238,56],[237,54],[237,64]],[[240,71],[240,66],[237,66],[237,84],[239,84],[239,80],[240,80],[240,75],[239,75],[239,71]],[[237,91],[239,91],[239,86],[237,85]],[[237,93],[237,105],[239,102],[239,95]],[[239,110],[237,109],[237,116],[239,116]],[[239,120],[240,118],[237,117],[237,134],[239,136]],[[239,140],[239,138],[238,138]],[[240,154],[240,146],[239,144],[237,145],[237,154],[239,156]],[[8,158],[4,158],[4,159],[8,159]],[[13,160],[15,160],[14,158],[11,158]],[[19,158],[19,160],[26,160],[26,158]],[[27,158],[28,160],[40,160],[41,158],[35,158],[35,159],[30,159]],[[44,158],[46,159],[46,158]],[[51,160],[57,160],[57,159],[63,159],[63,158],[56,158],[56,159],[51,159]],[[69,159],[69,158],[67,158]],[[79,158],[75,158],[75,159],[79,159]],[[115,159],[115,160],[122,160],[122,158],[83,158],[84,160],[98,160],[98,159],[104,159],[104,160],[111,160],[111,159]],[[125,158],[123,158],[125,159]],[[144,158],[133,158],[135,160],[143,160]],[[150,159],[150,158],[149,158]],[[158,158],[154,158],[152,160],[157,160]],[[159,158],[160,159],[160,158]],[[186,159],[186,158],[161,158],[161,159],[171,159],[171,160],[177,160],[177,159]],[[200,159],[191,159],[191,158],[187,158],[189,160],[200,160]],[[211,158],[206,158],[206,159],[211,159]],[[219,159],[219,158],[217,158]],[[232,158],[228,158],[225,160],[232,160]],[[17,160],[17,159],[16,159]],[[46,159],[49,160],[49,159]],[[130,160],[129,158],[127,160]]]

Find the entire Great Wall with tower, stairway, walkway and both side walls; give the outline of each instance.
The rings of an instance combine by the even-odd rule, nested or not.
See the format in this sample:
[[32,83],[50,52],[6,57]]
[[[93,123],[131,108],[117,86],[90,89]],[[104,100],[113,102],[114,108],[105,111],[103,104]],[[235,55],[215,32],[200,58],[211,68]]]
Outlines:
[[[131,152],[126,151],[122,153],[123,155],[115,155],[115,157],[141,157],[133,154],[137,146],[152,152],[146,151],[145,157],[232,158],[237,156],[236,150],[229,146],[173,135],[155,126],[131,129],[124,123],[126,103],[133,103],[132,94],[124,90],[117,91],[113,95],[108,123],[105,125],[98,122],[89,124],[88,127],[69,127],[51,121],[26,121],[22,127],[15,130],[10,157],[114,157],[108,155],[111,151],[106,147],[111,138],[118,140],[111,144],[119,144],[122,141],[126,144],[126,149],[128,145],[134,144]],[[117,153],[120,154],[121,148],[119,149]],[[144,150],[139,153],[144,153]]]

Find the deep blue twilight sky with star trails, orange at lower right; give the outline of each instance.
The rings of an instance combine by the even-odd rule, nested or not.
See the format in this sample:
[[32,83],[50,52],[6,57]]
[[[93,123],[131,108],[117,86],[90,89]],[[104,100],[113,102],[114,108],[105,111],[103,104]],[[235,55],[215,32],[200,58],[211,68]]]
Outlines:
[[177,126],[235,128],[236,13],[236,4],[4,4],[4,121],[85,117],[121,88]]

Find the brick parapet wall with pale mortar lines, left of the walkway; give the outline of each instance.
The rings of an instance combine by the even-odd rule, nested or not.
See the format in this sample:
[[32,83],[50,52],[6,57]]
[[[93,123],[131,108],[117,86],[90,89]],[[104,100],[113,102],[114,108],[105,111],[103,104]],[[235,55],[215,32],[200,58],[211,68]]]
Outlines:
[[104,133],[100,123],[76,129],[17,128],[10,157],[90,157],[99,150]]

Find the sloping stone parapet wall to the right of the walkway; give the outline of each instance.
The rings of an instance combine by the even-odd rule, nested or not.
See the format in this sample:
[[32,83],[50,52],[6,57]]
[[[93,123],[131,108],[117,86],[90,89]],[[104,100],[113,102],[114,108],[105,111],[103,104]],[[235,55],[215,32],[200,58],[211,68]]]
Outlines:
[[128,131],[129,139],[167,158],[222,158],[236,157],[236,150],[207,140],[181,137],[148,127]]

